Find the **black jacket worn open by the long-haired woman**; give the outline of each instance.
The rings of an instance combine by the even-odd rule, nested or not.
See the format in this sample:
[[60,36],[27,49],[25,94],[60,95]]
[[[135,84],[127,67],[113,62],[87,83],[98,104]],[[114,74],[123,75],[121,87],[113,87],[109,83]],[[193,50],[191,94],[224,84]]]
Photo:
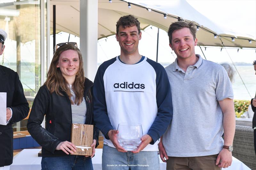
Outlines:
[[[92,81],[86,78],[84,82],[84,98],[86,100],[87,112],[85,124],[93,123],[93,103],[92,103]],[[63,92],[60,96],[53,92],[52,94],[45,85],[40,87],[34,100],[30,116],[28,119],[28,132],[42,146],[43,157],[66,156],[62,150],[55,150],[58,144],[63,141],[70,141],[72,112],[71,103]],[[42,128],[41,123],[46,115],[46,129]],[[93,139],[96,139],[99,145],[99,130],[94,125]]]

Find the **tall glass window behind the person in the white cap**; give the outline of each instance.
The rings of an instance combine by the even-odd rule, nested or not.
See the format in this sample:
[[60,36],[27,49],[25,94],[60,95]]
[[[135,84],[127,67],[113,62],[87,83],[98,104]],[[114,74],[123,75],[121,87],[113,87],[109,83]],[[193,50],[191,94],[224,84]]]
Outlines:
[[[7,33],[0,64],[19,74],[29,107],[46,75],[46,9],[46,1],[0,1],[0,28]],[[27,119],[12,125],[13,131],[27,130],[26,126]]]

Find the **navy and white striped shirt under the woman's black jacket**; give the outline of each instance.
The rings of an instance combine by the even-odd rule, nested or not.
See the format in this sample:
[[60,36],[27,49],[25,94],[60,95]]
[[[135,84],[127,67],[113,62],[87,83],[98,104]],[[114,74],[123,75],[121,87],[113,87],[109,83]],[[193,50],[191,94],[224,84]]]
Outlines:
[[[70,92],[72,94],[71,100],[73,103],[75,103],[75,92],[72,89],[72,86],[69,85]],[[71,111],[72,111],[72,123],[78,123],[78,124],[84,124],[86,120],[86,102],[83,96],[83,101],[80,103],[80,105],[77,104],[71,104]]]

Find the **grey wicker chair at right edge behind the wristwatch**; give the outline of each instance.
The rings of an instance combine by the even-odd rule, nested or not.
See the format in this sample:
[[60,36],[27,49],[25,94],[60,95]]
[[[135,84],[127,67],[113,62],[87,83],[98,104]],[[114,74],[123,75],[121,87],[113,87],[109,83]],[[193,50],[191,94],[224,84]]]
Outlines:
[[256,170],[256,156],[253,144],[253,129],[250,126],[236,125],[232,156]]

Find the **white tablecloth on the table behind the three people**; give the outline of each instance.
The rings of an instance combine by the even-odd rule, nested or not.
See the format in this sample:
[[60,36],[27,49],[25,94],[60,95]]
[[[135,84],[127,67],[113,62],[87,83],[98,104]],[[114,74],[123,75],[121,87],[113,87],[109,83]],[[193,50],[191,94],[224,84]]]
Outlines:
[[[38,152],[41,149],[23,149],[13,158],[13,163],[10,166],[5,166],[4,170],[40,170],[41,157],[38,157]],[[102,149],[96,149],[95,156],[92,158],[92,165],[94,170],[101,170],[101,155]],[[162,162],[159,157],[160,170],[166,169],[166,163]],[[233,157],[232,165],[223,170],[250,170],[250,168],[243,164],[240,160]]]

